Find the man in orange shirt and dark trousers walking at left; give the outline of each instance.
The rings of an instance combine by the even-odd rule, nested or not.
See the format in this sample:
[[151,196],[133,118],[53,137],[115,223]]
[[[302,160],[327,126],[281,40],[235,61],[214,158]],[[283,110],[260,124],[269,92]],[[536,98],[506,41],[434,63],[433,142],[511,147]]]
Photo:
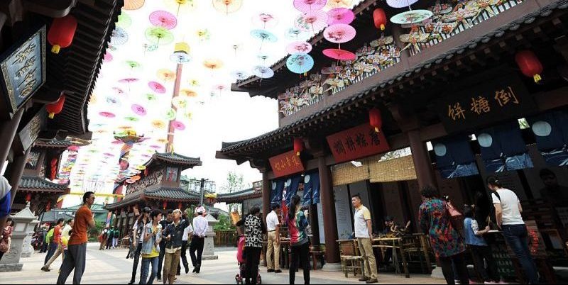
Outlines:
[[94,193],[87,192],[83,194],[83,206],[77,210],[75,214],[75,224],[73,225],[73,233],[69,238],[67,245],[67,257],[61,265],[61,272],[58,278],[58,284],[65,284],[67,277],[71,271],[75,269],[73,275],[73,284],[81,284],[85,267],[85,257],[87,256],[87,230],[94,228],[93,213],[91,206],[94,203]]

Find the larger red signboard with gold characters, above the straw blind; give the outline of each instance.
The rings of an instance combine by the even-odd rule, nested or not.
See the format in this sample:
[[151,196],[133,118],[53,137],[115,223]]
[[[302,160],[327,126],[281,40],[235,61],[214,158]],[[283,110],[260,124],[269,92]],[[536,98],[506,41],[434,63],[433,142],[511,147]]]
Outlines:
[[383,132],[376,133],[368,123],[327,136],[335,162],[356,160],[390,150]]

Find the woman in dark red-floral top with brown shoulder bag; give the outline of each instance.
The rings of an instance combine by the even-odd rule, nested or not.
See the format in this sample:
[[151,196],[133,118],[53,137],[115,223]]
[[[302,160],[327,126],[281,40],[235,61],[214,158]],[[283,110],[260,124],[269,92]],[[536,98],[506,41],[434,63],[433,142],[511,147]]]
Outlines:
[[442,273],[447,284],[455,284],[452,262],[456,265],[460,284],[469,284],[464,260],[466,247],[461,236],[450,223],[446,202],[438,198],[438,191],[432,186],[424,187],[421,194],[425,201],[418,213],[420,228],[430,237],[430,245],[436,259],[442,264]]

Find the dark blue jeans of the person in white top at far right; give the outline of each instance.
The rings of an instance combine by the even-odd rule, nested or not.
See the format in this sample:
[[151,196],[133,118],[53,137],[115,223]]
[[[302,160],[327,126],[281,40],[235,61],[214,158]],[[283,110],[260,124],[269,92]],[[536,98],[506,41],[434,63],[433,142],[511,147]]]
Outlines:
[[525,225],[503,225],[503,235],[507,245],[519,259],[525,276],[530,284],[538,284],[538,271],[535,262],[532,261],[528,249],[528,231]]

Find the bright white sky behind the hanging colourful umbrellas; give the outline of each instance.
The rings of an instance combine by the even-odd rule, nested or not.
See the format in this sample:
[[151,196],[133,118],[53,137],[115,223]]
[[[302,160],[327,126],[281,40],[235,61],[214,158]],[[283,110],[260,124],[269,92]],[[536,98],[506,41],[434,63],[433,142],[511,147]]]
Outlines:
[[[175,2],[126,1],[127,5],[143,5],[136,10],[123,9],[115,36],[111,38],[88,107],[89,130],[94,133],[92,143],[80,148],[76,161],[68,152],[62,158],[63,165],[70,167],[62,167],[60,177],[70,177],[72,192],[111,193],[113,181],[119,175],[122,147],[113,133],[131,129],[144,135],[145,140],[133,146],[130,168],[124,173],[136,174],[136,167],[153,152],[164,152],[170,118],[182,125],[175,131],[175,152],[200,157],[203,162],[201,167],[182,174],[215,181],[218,191],[231,171],[243,174],[246,184],[261,180],[261,174],[248,162],[237,166],[234,161],[214,158],[222,142],[246,140],[278,128],[278,102],[231,92],[230,85],[236,81],[231,74],[241,72],[248,76],[255,65],[272,65],[287,55],[285,47],[289,43],[307,40],[317,30],[299,37],[288,35],[294,19],[301,14],[292,0],[244,0],[238,11],[229,14],[214,9],[214,1],[209,0],[188,1],[193,6],[181,6],[178,13]],[[359,0],[350,6],[356,3]],[[155,11],[167,11],[170,18],[175,16],[175,25],[154,22],[171,28],[165,31],[169,35],[162,38],[152,36],[159,34],[156,31],[163,34],[164,30],[154,28],[151,15],[167,13],[153,14]],[[259,20],[261,13],[275,19],[265,25]],[[275,35],[274,43],[251,36],[251,30],[263,28]],[[176,103],[180,108],[173,113],[171,75],[175,74],[176,63],[170,60],[170,55],[175,43],[180,42],[190,46],[191,60],[183,65],[181,77],[181,89],[187,92],[178,97],[181,99]],[[204,62],[215,62],[220,68],[207,68]],[[157,82],[165,92],[151,89],[148,82]],[[69,173],[65,172],[69,169]],[[68,196],[63,206],[73,206],[79,201],[79,196]]]

